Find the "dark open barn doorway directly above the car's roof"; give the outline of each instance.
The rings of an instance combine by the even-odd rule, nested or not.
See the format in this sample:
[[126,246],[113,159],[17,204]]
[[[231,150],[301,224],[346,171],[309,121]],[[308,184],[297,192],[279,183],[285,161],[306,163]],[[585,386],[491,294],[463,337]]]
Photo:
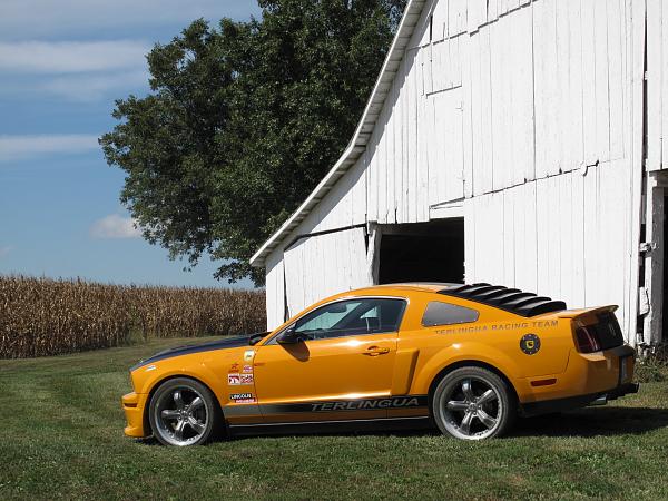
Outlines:
[[379,284],[464,281],[464,219],[383,225]]

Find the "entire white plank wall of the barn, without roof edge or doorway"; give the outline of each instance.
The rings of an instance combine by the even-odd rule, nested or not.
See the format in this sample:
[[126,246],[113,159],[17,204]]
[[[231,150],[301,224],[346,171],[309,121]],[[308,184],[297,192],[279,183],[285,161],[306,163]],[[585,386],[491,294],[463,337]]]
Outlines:
[[[425,222],[435,206],[464,200],[468,282],[573,307],[619,304],[635,332],[644,9],[639,0],[428,2],[365,153],[283,239],[291,247],[272,255],[284,259],[289,313],[371,283],[364,229],[351,227]],[[666,68],[668,8],[648,0],[648,9]],[[661,71],[657,110],[668,90]],[[662,158],[667,115],[657,115]],[[281,282],[278,268],[269,275]]]

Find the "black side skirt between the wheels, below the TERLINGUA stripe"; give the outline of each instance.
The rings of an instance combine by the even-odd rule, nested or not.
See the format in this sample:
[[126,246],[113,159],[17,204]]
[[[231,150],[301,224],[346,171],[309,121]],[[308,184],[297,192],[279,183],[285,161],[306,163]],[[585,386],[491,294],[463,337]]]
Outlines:
[[249,435],[302,435],[317,433],[343,433],[352,431],[392,431],[433,429],[429,416],[382,418],[377,420],[303,421],[289,423],[258,423],[229,425],[232,436]]

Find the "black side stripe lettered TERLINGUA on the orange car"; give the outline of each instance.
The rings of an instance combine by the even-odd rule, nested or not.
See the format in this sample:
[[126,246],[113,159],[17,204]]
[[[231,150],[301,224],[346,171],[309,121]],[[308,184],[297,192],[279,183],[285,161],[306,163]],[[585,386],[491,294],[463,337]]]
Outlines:
[[382,396],[377,399],[325,400],[285,404],[261,404],[264,415],[303,412],[386,411],[390,409],[426,407],[426,395]]

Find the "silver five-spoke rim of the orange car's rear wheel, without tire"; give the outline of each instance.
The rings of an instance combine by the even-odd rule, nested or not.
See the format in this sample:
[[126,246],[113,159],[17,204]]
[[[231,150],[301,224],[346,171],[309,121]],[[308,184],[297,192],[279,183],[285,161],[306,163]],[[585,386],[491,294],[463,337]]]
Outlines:
[[499,392],[478,377],[464,377],[452,385],[444,405],[448,431],[469,440],[491,435],[499,426],[503,412]]

